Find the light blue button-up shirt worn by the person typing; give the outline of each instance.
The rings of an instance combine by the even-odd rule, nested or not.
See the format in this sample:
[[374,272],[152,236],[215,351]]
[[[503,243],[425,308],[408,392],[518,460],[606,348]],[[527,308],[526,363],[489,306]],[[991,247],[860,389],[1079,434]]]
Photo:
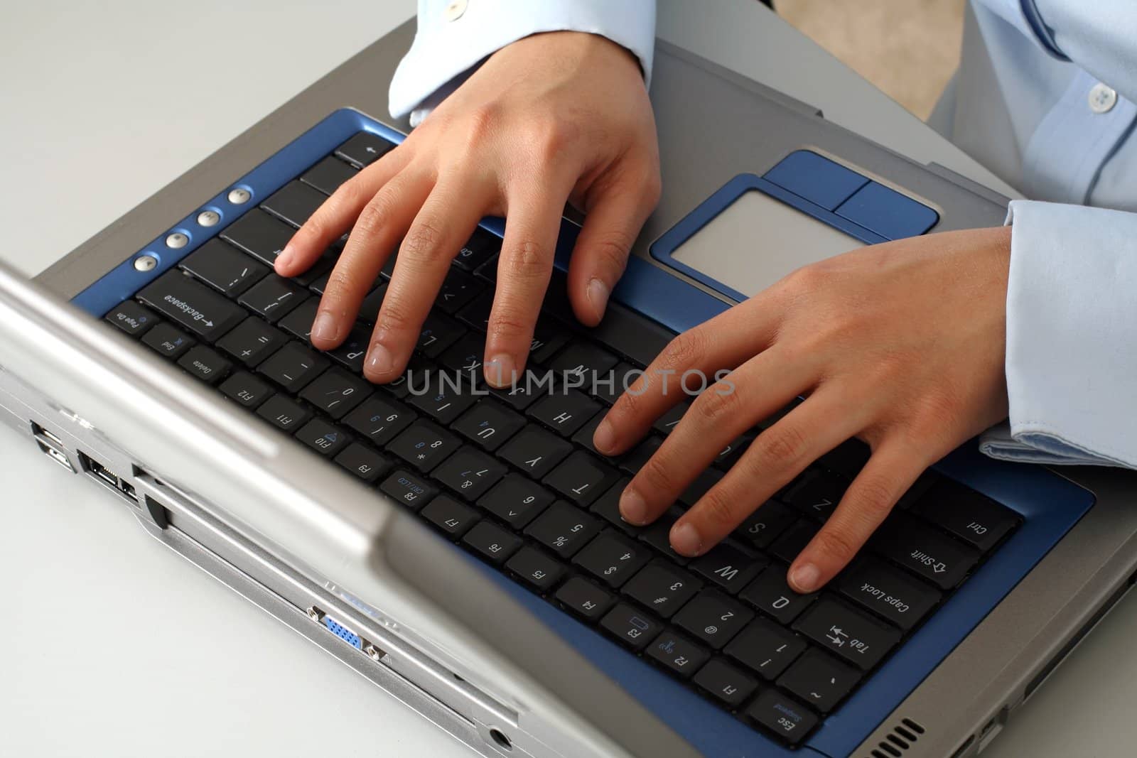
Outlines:
[[[417,124],[487,56],[601,34],[652,74],[652,0],[418,0],[391,83]],[[987,455],[1137,468],[1137,0],[971,0],[929,123],[1031,200],[1011,203],[1010,419]]]

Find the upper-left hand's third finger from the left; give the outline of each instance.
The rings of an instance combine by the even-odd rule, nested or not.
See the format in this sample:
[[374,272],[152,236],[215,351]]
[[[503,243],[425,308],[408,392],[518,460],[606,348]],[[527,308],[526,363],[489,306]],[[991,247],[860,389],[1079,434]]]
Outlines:
[[402,374],[450,263],[473,234],[489,203],[489,189],[465,174],[434,188],[407,231],[375,319],[364,374],[390,382]]

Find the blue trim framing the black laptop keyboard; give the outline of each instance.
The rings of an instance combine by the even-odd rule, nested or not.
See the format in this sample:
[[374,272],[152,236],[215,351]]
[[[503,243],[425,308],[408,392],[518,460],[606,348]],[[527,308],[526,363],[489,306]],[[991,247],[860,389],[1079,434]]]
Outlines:
[[[131,256],[78,294],[74,302],[93,316],[102,316],[217,235],[240,213],[256,207],[262,199],[267,198],[360,130],[395,142],[402,140],[402,135],[398,132],[357,111],[338,110],[226,188],[221,194],[204,202],[200,208],[172,225],[169,231],[136,253],[155,255],[160,260],[156,269],[144,274],[136,272],[133,266],[136,255]],[[738,182],[738,186],[754,185],[762,191],[770,191],[770,188],[764,185],[764,180],[753,175],[736,177],[732,182]],[[788,192],[773,183],[770,184],[777,190]],[[248,189],[252,193],[252,199],[240,207],[233,206],[227,200],[229,191],[233,186]],[[737,186],[733,190],[737,190]],[[773,197],[785,200],[785,195],[773,194]],[[218,225],[209,228],[197,225],[197,215],[206,208],[217,210],[222,215]],[[485,219],[482,225],[497,234],[501,234],[504,230],[504,223],[499,218]],[[167,249],[164,243],[166,234],[175,230],[182,231],[190,238],[190,243],[180,250]],[[559,268],[565,268],[567,265],[575,231],[575,226],[566,223],[565,234],[557,250],[556,265]],[[682,282],[665,269],[637,257],[632,257],[629,261],[628,272],[616,286],[613,297],[675,332],[691,328],[729,307],[728,303]],[[628,655],[616,643],[591,627],[554,608],[467,553],[463,555],[467,556],[472,566],[483,572],[541,618],[661,719],[671,724],[683,739],[706,755],[789,757],[816,752],[832,757],[845,756],[861,744],[881,720],[893,713],[901,701],[1065,535],[1094,502],[1089,492],[1064,478],[1036,466],[990,460],[980,456],[973,443],[953,452],[938,464],[937,468],[1018,511],[1024,518],[1023,524],[1007,543],[838,709],[836,715],[824,722],[807,741],[806,747],[798,750],[786,749],[765,738],[717,706],[678,684],[654,666]]]

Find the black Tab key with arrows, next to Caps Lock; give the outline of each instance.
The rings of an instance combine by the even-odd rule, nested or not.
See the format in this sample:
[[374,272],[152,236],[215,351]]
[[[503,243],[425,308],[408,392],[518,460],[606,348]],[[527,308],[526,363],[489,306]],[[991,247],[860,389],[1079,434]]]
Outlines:
[[794,624],[802,634],[869,670],[901,641],[901,633],[868,614],[823,597]]

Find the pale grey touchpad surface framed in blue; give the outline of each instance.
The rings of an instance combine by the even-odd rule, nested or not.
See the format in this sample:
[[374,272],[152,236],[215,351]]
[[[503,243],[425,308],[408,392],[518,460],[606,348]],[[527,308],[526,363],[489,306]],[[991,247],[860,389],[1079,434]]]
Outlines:
[[795,268],[863,245],[792,206],[748,190],[675,248],[671,258],[748,298]]

